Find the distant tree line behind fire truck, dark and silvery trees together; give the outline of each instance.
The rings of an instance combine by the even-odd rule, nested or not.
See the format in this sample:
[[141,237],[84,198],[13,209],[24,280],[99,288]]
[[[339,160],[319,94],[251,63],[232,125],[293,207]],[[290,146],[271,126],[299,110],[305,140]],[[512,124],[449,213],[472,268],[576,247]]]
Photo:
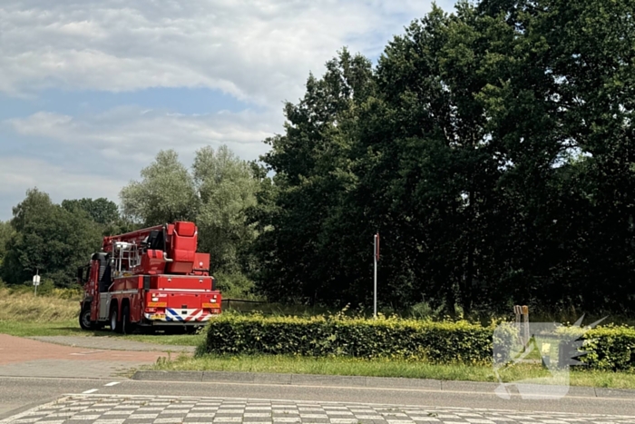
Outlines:
[[191,173],[177,153],[161,151],[142,169],[141,181],[122,188],[121,208],[103,198],[54,204],[47,193],[29,190],[13,219],[0,222],[0,277],[23,284],[38,271],[56,286],[69,287],[77,267],[100,250],[104,235],[188,220],[199,227],[199,251],[210,253],[220,288],[249,296],[253,283],[242,271],[256,231],[246,211],[256,204],[259,172],[223,145],[200,149]]

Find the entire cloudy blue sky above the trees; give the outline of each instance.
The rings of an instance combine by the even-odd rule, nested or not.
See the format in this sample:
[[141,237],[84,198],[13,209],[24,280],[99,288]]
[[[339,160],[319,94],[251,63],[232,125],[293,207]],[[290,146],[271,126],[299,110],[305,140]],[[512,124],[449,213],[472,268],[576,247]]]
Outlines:
[[[437,5],[452,12],[454,1]],[[429,0],[3,0],[0,220],[26,190],[106,197],[156,153],[258,159],[343,46],[376,62]]]

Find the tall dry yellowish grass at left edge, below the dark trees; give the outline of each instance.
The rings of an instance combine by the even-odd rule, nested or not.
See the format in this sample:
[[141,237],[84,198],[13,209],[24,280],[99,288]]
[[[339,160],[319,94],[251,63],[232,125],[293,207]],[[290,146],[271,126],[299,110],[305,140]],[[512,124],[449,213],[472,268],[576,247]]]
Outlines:
[[79,299],[64,299],[57,294],[35,297],[33,292],[11,292],[0,288],[0,320],[58,322],[77,318]]

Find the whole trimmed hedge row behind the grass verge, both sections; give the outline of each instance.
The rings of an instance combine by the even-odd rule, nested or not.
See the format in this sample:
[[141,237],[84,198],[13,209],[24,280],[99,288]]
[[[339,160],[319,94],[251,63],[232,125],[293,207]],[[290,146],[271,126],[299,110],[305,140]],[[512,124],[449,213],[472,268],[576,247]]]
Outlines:
[[[509,326],[509,331],[513,327]],[[582,335],[581,370],[635,371],[635,329],[606,326]],[[496,334],[499,360],[510,358],[512,333],[467,321],[432,322],[381,318],[263,317],[224,314],[208,327],[205,351],[216,354],[277,354],[395,358],[435,363],[493,363]],[[509,332],[509,334],[508,334]]]

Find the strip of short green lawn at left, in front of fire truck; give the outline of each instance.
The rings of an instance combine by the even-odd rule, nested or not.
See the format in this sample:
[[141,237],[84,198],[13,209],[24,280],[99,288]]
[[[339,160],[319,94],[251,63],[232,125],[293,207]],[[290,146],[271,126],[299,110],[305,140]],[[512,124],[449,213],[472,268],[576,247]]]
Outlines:
[[85,331],[79,327],[77,320],[63,320],[56,322],[18,322],[0,320],[0,333],[18,337],[31,336],[93,336],[117,337],[125,340],[144,341],[172,346],[198,346],[204,339],[202,334],[117,334],[110,330]]

